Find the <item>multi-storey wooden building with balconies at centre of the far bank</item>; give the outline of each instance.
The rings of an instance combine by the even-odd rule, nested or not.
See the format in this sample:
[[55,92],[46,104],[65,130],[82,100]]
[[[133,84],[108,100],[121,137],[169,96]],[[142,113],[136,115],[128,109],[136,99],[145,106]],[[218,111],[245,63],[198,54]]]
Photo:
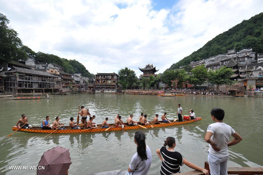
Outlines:
[[97,73],[95,79],[96,93],[113,93],[118,91],[117,82],[119,75],[117,73]]

